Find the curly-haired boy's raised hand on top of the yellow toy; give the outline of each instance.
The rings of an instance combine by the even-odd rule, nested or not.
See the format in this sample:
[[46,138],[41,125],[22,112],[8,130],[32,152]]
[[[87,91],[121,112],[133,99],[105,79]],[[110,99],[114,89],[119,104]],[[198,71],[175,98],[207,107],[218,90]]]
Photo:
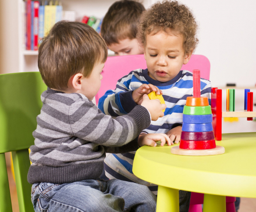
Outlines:
[[136,102],[138,105],[141,104],[143,100],[144,94],[150,94],[152,91],[157,92],[158,95],[163,94],[161,90],[159,90],[158,87],[152,84],[142,84],[139,88],[135,89],[133,91],[132,97],[134,102]]

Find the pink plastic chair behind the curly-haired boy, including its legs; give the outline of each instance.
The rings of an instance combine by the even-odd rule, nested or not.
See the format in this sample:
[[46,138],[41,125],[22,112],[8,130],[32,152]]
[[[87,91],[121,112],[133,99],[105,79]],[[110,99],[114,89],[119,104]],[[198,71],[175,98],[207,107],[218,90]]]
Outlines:
[[[146,69],[147,64],[144,55],[127,55],[127,56],[112,56],[108,57],[104,67],[103,79],[101,81],[101,88],[95,96],[98,104],[99,98],[105,94],[109,89],[116,88],[116,82],[129,74],[135,69]],[[203,55],[192,55],[189,63],[182,66],[182,70],[193,71],[200,70],[200,77],[209,80],[210,63],[208,58]],[[234,201],[236,197],[226,197],[226,211],[235,212]],[[189,212],[202,212],[202,203],[204,202],[203,193],[191,193]]]

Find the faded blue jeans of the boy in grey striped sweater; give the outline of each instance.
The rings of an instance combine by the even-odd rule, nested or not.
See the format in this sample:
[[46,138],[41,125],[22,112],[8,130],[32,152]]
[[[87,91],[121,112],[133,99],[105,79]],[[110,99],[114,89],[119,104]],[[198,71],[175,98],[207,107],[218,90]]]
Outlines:
[[111,179],[87,179],[69,184],[33,184],[35,212],[110,212],[156,210],[155,195],[147,186]]

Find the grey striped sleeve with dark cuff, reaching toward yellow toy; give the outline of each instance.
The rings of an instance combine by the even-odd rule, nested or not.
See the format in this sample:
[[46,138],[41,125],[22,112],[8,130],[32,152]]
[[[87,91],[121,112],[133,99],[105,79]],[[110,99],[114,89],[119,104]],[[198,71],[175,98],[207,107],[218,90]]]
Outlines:
[[69,119],[73,135],[81,142],[103,146],[126,145],[151,122],[150,114],[143,106],[138,105],[127,115],[113,119],[86,99],[80,99],[70,106]]

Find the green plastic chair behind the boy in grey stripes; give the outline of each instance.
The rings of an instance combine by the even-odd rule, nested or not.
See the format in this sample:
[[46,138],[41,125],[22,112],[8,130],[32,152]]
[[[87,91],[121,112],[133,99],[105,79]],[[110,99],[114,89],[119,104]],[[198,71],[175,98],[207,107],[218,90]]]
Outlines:
[[20,212],[32,212],[29,148],[37,127],[40,96],[47,89],[39,72],[0,74],[0,212],[12,211],[5,152],[12,152]]

